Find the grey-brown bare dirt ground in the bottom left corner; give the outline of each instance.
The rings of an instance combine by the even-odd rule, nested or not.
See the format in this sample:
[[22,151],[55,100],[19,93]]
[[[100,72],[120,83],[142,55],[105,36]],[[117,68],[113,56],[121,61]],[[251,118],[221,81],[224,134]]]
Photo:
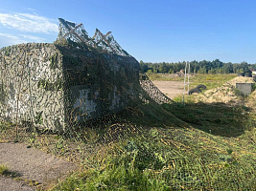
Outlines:
[[21,143],[0,143],[0,164],[14,175],[0,176],[0,191],[36,190],[77,169],[76,164],[58,159]]

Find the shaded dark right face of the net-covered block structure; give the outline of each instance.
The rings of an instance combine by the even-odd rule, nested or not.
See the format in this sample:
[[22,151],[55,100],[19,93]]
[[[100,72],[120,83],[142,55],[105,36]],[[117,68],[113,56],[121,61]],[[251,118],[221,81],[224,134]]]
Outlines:
[[138,98],[135,58],[61,46],[58,50],[63,55],[68,123],[121,111]]

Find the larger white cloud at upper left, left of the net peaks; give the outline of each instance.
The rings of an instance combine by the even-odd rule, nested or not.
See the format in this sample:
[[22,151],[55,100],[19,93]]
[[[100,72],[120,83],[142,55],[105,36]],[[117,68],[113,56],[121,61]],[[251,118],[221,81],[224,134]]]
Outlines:
[[21,32],[58,33],[52,20],[30,13],[0,13],[0,23]]

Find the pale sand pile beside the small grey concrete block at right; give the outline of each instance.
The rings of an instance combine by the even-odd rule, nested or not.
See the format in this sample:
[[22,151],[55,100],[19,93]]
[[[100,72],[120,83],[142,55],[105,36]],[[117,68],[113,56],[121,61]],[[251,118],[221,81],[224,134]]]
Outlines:
[[236,83],[254,83],[254,81],[252,77],[237,76],[225,82],[221,87],[205,91],[203,94],[200,94],[197,99],[198,101],[208,103],[237,103],[242,100],[243,96],[241,96],[240,91],[236,89]]

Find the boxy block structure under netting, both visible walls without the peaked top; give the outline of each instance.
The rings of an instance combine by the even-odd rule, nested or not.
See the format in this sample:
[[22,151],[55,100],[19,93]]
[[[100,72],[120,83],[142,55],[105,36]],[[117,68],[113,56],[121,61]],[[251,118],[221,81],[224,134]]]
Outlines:
[[117,112],[136,99],[133,57],[47,43],[0,50],[0,117],[53,130]]

